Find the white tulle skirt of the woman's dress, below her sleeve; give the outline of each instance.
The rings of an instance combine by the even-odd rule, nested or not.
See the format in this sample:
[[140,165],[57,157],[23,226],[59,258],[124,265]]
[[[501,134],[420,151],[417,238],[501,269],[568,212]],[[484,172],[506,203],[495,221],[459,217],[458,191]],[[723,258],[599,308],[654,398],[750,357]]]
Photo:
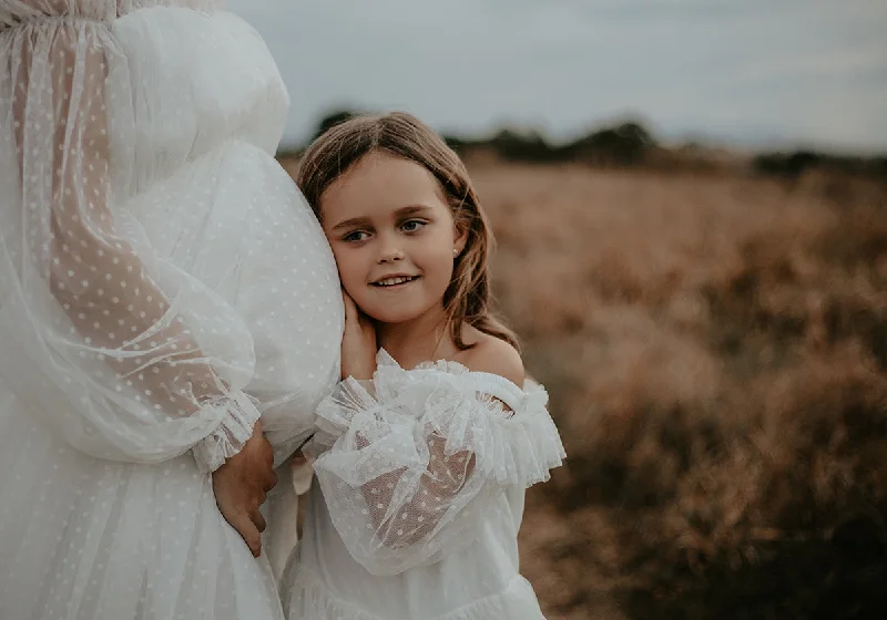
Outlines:
[[0,384],[0,472],[4,619],[281,618],[266,556],[222,518],[191,455],[92,458]]

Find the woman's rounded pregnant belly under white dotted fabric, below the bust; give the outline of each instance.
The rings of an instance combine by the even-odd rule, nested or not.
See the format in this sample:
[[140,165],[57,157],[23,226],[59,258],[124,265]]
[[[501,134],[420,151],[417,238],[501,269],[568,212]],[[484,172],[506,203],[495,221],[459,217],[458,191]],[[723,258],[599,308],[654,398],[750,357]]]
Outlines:
[[338,379],[344,314],[333,254],[290,177],[231,141],[125,205],[155,255],[227,301],[256,354],[247,392],[282,451],[312,428]]

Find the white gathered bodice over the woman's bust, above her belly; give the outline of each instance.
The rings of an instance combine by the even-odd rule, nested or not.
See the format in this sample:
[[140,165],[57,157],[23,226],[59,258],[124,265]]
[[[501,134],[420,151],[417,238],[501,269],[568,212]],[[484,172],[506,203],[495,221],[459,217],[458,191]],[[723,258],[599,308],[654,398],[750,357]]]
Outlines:
[[113,22],[125,58],[140,192],[183,162],[235,138],[274,153],[289,99],[267,46],[242,19],[179,7],[151,7]]

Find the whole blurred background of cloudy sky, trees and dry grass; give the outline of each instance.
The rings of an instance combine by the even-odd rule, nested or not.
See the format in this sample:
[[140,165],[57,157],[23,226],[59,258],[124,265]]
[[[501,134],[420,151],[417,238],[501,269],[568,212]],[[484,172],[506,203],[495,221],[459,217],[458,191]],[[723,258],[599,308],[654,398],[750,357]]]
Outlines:
[[887,4],[228,0],[292,97],[466,159],[570,455],[550,620],[887,618]]

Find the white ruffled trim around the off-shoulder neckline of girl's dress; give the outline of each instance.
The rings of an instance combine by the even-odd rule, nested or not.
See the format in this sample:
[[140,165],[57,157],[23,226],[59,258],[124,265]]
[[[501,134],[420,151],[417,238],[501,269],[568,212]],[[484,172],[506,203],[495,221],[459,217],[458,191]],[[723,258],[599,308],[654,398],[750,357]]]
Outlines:
[[[468,451],[478,469],[498,484],[529,487],[548,480],[563,464],[558,428],[546,409],[548,392],[534,382],[528,390],[499,375],[468,370],[452,361],[428,362],[404,370],[384,350],[371,382],[346,379],[317,409],[317,432],[305,453],[319,456],[359,420],[370,443],[388,435],[397,416],[421,417],[447,437],[447,454]],[[506,413],[501,400],[513,411]],[[468,409],[466,409],[468,407]],[[396,412],[391,417],[391,412]],[[388,412],[388,413],[385,413]],[[386,418],[387,420],[384,420]],[[377,420],[380,435],[374,433]],[[390,437],[389,437],[390,438]],[[405,453],[399,455],[407,461]]]

